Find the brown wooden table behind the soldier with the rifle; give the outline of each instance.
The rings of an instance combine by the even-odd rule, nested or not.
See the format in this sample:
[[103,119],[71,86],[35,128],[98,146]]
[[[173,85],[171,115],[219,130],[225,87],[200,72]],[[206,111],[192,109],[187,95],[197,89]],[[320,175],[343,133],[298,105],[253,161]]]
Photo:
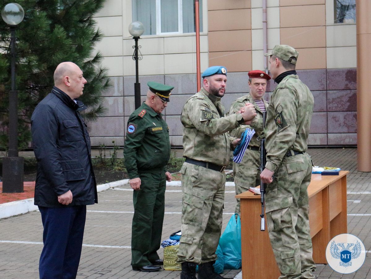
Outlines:
[[[327,244],[334,236],[347,233],[347,173],[312,174],[308,186],[309,226],[315,263],[327,263]],[[247,191],[236,195],[236,198],[241,199],[242,278],[278,278],[280,272],[267,225],[265,231],[260,231],[260,195]]]

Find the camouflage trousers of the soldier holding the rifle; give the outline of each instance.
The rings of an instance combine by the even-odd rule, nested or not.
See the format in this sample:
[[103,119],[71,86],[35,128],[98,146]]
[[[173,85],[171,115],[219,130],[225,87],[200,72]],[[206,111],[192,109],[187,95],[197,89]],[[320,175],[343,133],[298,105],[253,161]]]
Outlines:
[[311,175],[309,155],[285,157],[267,185],[266,221],[279,278],[314,278],[307,192]]

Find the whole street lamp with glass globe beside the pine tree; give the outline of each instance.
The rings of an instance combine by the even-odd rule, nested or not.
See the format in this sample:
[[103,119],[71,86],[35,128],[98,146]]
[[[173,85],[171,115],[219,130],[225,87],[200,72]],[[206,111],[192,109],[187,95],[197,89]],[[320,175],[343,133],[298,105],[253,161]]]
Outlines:
[[9,151],[3,158],[3,193],[23,192],[23,157],[18,157],[18,93],[16,90],[16,27],[24,11],[17,3],[5,5],[1,17],[10,27],[11,89],[9,92]]

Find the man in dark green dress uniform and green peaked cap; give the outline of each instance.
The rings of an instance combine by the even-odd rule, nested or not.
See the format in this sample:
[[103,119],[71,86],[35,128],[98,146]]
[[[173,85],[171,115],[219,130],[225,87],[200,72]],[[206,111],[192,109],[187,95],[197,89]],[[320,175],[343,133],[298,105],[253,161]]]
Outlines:
[[160,248],[165,212],[165,171],[170,159],[169,127],[161,112],[174,87],[148,82],[147,99],[129,117],[124,146],[125,166],[133,193],[134,216],[131,235],[133,270],[161,270]]

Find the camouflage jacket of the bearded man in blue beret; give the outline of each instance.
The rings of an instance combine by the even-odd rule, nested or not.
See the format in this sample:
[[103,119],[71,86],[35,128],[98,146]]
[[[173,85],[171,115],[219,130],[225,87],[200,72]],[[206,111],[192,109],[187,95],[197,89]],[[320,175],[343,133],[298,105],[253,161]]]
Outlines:
[[237,121],[242,121],[242,115],[224,116],[220,99],[201,88],[184,104],[183,157],[220,166],[228,164],[231,149],[227,132],[240,126]]

